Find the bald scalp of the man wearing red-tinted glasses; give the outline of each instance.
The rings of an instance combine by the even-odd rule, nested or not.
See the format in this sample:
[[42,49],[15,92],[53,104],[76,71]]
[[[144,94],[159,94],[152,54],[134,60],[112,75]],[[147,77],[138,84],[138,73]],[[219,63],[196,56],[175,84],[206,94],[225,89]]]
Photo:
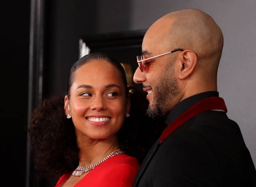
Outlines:
[[147,38],[158,41],[156,45],[164,46],[163,52],[176,48],[191,49],[198,61],[210,59],[213,61],[211,68],[218,68],[223,48],[221,29],[211,16],[198,9],[166,14],[151,25],[144,37],[145,42]]

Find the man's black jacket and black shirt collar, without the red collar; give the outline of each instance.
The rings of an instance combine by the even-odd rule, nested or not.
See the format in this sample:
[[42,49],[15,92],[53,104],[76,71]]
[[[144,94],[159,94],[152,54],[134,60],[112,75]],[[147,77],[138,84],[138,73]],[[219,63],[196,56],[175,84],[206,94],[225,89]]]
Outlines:
[[[170,118],[216,94],[185,99]],[[163,143],[153,145],[134,186],[254,187],[255,180],[255,167],[238,125],[225,112],[206,111],[185,122]]]

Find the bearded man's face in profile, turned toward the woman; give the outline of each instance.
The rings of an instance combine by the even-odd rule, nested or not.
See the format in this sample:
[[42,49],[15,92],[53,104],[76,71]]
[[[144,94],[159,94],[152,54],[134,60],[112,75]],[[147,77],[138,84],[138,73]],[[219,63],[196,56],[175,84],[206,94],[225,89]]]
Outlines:
[[[165,41],[147,32],[142,43],[143,58],[169,52]],[[156,42],[158,41],[158,42]],[[143,90],[148,93],[148,115],[152,118],[161,117],[170,111],[171,102],[179,94],[179,85],[175,78],[175,59],[177,52],[148,60],[144,72],[138,67],[134,74],[135,83],[142,83]]]

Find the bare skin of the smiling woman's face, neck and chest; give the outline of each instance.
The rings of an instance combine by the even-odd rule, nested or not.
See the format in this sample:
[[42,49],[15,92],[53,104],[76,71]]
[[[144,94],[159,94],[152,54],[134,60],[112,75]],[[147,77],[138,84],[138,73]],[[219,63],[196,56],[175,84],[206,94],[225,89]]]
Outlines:
[[[94,164],[119,148],[116,133],[129,110],[130,101],[116,67],[105,60],[92,60],[76,70],[70,97],[65,96],[65,112],[75,126],[80,166]],[[88,120],[102,115],[110,118],[103,125]],[[73,186],[84,175],[71,175],[64,186]]]

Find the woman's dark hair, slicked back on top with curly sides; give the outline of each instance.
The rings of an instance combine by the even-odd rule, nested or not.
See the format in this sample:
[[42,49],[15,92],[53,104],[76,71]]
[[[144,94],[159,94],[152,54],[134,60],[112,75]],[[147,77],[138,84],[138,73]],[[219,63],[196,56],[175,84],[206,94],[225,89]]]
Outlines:
[[[72,66],[67,87],[68,97],[76,69],[94,59],[103,59],[112,63],[119,69],[123,83],[127,85],[125,71],[119,62],[102,53],[91,53]],[[162,120],[151,120],[146,116],[147,100],[142,92],[127,87],[126,97],[129,90],[133,90],[133,93],[130,93],[130,117],[125,119],[117,136],[120,148],[142,162],[165,124]],[[30,121],[29,133],[35,167],[42,175],[58,178],[77,167],[79,149],[74,124],[65,115],[64,96],[46,99],[42,106],[35,109]]]

